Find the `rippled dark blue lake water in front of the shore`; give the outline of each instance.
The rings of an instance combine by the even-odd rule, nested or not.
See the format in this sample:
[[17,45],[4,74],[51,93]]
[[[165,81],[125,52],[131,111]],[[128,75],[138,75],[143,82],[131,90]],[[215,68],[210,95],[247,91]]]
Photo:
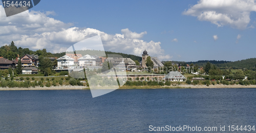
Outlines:
[[90,90],[0,91],[0,132],[151,132],[150,125],[225,125],[222,132],[229,132],[228,125],[256,126],[255,94],[253,88],[116,90],[96,98]]

